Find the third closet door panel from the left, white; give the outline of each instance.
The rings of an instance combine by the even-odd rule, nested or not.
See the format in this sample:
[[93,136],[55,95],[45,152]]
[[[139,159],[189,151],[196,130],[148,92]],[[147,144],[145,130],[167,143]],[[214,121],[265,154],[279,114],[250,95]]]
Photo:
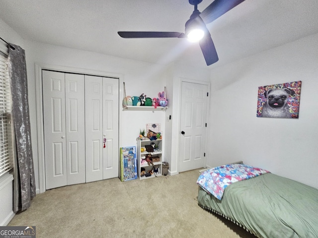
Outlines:
[[102,83],[101,77],[85,75],[86,182],[103,179]]

